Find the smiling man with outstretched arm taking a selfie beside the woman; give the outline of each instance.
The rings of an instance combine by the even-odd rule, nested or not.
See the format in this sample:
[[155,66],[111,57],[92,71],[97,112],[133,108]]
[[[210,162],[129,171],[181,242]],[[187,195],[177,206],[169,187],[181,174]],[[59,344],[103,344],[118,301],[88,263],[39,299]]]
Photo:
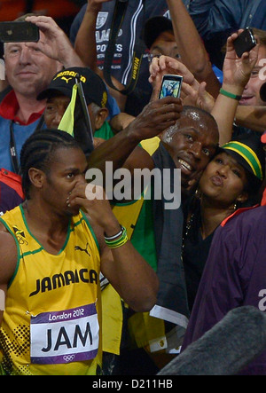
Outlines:
[[[170,124],[170,117],[178,110],[180,118]],[[91,153],[89,165],[105,171],[106,161],[113,161],[113,170],[122,165],[132,176],[135,169],[160,169],[162,173],[163,169],[169,169],[170,176],[166,176],[169,183],[173,171],[181,169],[181,190],[185,198],[189,182],[200,175],[215,154],[218,143],[215,120],[199,108],[183,108],[179,98],[170,96],[155,99],[145,106],[144,113],[145,118],[137,116],[126,130],[99,145]],[[143,139],[157,135],[155,130],[162,127],[163,122],[168,122],[169,127],[161,133],[161,143],[158,138],[159,147],[157,145],[155,153],[147,153],[138,144],[143,145]],[[145,316],[129,313],[129,320],[126,320],[130,337],[134,337],[134,346],[138,347],[136,350],[121,348],[120,364],[123,373],[130,375],[143,373],[140,369],[143,365],[145,372],[158,373],[161,366],[172,359],[169,350],[177,350],[182,342],[189,317],[181,262],[183,210],[168,210],[164,208],[164,201],[164,197],[145,200],[138,216],[136,200],[127,201],[124,206],[123,203],[121,206],[115,204],[115,214],[129,225],[131,232],[134,231],[132,243],[139,252],[148,255],[148,262],[160,280],[154,309]]]

